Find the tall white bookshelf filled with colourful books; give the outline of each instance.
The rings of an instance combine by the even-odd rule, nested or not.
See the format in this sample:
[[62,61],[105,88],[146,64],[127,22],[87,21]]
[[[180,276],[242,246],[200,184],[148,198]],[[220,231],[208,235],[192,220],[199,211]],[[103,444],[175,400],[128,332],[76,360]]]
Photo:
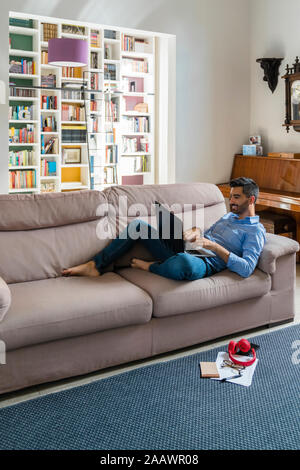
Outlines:
[[[65,98],[59,90],[35,89],[34,96],[31,97],[10,96],[11,106],[32,105],[34,107],[34,119],[23,122],[11,120],[9,125],[11,127],[31,124],[34,126],[35,140],[31,144],[9,143],[10,152],[31,149],[34,153],[33,165],[13,165],[9,167],[9,173],[30,170],[36,173],[34,187],[12,188],[10,192],[41,192],[49,190],[50,187],[55,191],[86,189],[90,188],[90,176],[94,179],[93,188],[100,190],[111,185],[124,184],[124,182],[131,184],[128,177],[132,177],[132,181],[138,177],[138,184],[153,184],[155,182],[155,33],[58,18],[43,18],[16,12],[10,13],[10,18],[32,20],[31,28],[9,26],[11,38],[27,37],[27,43],[31,41],[32,44],[31,48],[26,48],[30,50],[23,50],[20,47],[20,41],[12,40],[9,50],[10,58],[24,57],[26,60],[35,61],[34,74],[9,72],[11,82],[15,80],[18,86],[22,83],[26,85],[30,83],[32,86],[40,87],[41,77],[53,74],[56,77],[56,88],[61,88],[67,83],[70,84],[70,87],[72,84],[82,83],[83,78],[64,77],[62,68],[42,63],[42,52],[48,50],[48,41],[44,40],[43,36],[43,23],[56,25],[57,37],[77,38],[88,42],[89,63],[87,67],[82,68],[82,71],[89,72],[87,82],[89,89],[92,87],[92,74],[97,74],[99,80],[98,89],[93,93],[97,103],[96,109],[92,108],[91,101],[85,102],[76,97]],[[65,32],[66,30],[72,31],[72,27],[77,27],[78,31],[80,30],[84,34]],[[124,36],[132,37],[136,44],[138,43],[139,50],[126,50]],[[13,42],[16,42],[16,45]],[[140,71],[139,67],[146,66],[146,64],[147,71]],[[56,109],[41,109],[42,96],[56,96]],[[84,126],[86,121],[62,120],[62,106],[82,106],[85,103],[87,105],[89,145],[86,142],[63,141],[62,131],[66,126]],[[146,111],[135,109],[136,105],[140,103],[144,103]],[[113,117],[107,107],[114,110]],[[41,123],[47,118],[55,118],[55,131],[42,129]],[[92,127],[93,120],[95,125],[97,120],[95,129]],[[129,131],[128,120],[132,125],[136,122],[137,126],[145,123],[147,128]],[[47,142],[51,137],[58,139],[58,150],[54,154],[42,154],[42,140]],[[112,138],[114,141],[109,141]],[[136,151],[129,152],[124,149],[126,139],[136,139]],[[141,148],[141,140],[147,141],[147,151]],[[132,144],[132,142],[129,143]],[[63,157],[66,152],[70,153],[74,148],[81,151],[80,162],[66,163]],[[90,155],[94,157],[94,171],[91,175],[89,173],[88,149],[90,149]],[[147,163],[144,165],[145,171],[138,171],[140,170],[140,165],[138,165],[140,160],[137,159],[141,157]],[[45,160],[56,163],[54,175],[41,174]],[[135,166],[133,160],[136,160]],[[70,180],[72,175],[74,175],[74,181]],[[124,180],[124,177],[127,179]],[[49,183],[53,183],[52,186]]]

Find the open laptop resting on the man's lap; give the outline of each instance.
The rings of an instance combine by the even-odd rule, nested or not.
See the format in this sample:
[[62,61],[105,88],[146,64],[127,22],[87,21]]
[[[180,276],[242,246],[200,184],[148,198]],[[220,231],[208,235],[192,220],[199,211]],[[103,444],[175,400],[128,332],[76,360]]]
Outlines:
[[[199,258],[216,256],[213,251],[207,250],[201,245],[195,246],[195,243],[185,241],[183,239],[183,223],[181,219],[176,217],[173,212],[170,212],[160,202],[155,201],[154,204],[159,238],[163,239],[171,250],[175,253],[188,253]],[[170,220],[170,238],[163,238],[163,220]],[[176,238],[175,234],[177,235]]]

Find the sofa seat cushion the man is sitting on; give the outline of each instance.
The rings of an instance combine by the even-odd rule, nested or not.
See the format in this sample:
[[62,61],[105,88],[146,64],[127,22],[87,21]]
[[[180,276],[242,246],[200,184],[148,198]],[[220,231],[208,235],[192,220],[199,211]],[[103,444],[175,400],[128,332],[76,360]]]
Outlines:
[[226,269],[196,281],[174,281],[132,268],[119,269],[118,273],[148,292],[153,300],[154,317],[197,312],[260,297],[271,289],[270,275],[259,269],[248,278]]

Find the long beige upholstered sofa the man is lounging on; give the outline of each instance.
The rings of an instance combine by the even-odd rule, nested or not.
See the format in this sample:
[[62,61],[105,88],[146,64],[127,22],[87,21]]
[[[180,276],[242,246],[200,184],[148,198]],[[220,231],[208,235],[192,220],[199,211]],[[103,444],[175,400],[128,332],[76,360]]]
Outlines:
[[138,218],[150,223],[155,200],[204,204],[205,228],[226,212],[219,189],[206,183],[1,195],[0,340],[6,364],[0,365],[0,393],[293,319],[298,244],[275,235],[267,236],[249,278],[225,270],[174,281],[132,269],[132,256],[151,259],[139,244],[99,278],[62,277],[63,268],[109,243],[102,238],[111,228],[108,204],[120,226],[136,218],[121,217],[120,196],[128,207],[142,203]]

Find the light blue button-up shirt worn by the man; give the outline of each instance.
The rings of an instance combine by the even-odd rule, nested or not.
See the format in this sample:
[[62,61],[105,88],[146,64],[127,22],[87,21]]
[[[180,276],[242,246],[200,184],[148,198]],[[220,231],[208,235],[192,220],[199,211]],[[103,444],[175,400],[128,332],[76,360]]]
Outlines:
[[226,248],[229,252],[227,264],[219,256],[206,258],[216,271],[228,268],[242,277],[249,277],[258,262],[265,243],[266,230],[259,216],[239,219],[229,212],[204,232],[204,237]]

